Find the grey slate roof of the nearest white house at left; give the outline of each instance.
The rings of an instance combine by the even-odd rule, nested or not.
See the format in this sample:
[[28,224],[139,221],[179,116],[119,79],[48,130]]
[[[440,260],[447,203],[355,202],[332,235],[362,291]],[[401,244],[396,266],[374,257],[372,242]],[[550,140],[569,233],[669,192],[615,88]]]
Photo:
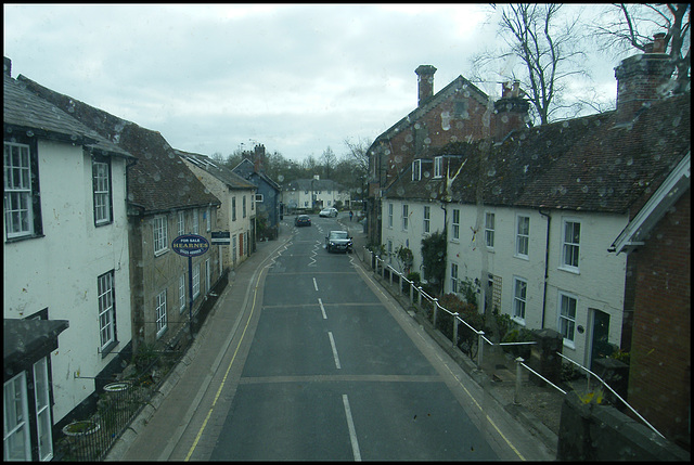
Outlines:
[[8,74],[3,74],[2,96],[5,135],[34,134],[82,144],[105,155],[132,157],[69,114],[31,93],[23,82]]

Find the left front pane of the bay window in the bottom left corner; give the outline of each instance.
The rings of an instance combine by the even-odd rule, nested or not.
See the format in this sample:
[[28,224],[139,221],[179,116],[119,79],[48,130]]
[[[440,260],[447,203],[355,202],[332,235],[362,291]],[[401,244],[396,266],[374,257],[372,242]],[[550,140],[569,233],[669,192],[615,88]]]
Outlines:
[[2,449],[5,461],[30,461],[30,438],[26,372],[22,372],[4,384],[4,440]]

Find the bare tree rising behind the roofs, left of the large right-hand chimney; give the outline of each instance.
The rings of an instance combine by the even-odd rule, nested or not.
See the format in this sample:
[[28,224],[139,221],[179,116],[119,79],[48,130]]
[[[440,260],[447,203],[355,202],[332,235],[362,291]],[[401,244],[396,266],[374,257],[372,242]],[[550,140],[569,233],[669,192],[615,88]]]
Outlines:
[[[577,10],[578,12],[578,10]],[[590,77],[580,63],[582,28],[580,14],[570,17],[561,4],[505,4],[501,10],[499,34],[506,47],[497,52],[484,52],[473,59],[477,77],[499,61],[519,60],[520,66],[499,72],[505,81],[518,80],[531,103],[531,116],[540,124],[550,121],[558,109],[580,102],[565,104],[563,93],[568,78]]]

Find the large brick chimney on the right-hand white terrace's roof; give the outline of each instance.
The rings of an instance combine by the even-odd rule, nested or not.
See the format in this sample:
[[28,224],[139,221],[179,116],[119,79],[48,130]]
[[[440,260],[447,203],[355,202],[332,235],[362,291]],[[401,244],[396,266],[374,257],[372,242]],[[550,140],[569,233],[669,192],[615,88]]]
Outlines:
[[653,36],[646,53],[629,56],[615,68],[617,78],[617,122],[628,122],[651,102],[668,91],[674,66],[665,53],[665,34]]

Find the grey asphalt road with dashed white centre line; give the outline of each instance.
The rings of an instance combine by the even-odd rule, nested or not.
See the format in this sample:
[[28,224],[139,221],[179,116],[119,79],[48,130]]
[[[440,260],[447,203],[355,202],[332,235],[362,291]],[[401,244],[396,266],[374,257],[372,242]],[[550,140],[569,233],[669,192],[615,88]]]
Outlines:
[[324,249],[339,223],[312,219],[259,274],[185,458],[532,458],[537,441],[494,410],[357,258]]

